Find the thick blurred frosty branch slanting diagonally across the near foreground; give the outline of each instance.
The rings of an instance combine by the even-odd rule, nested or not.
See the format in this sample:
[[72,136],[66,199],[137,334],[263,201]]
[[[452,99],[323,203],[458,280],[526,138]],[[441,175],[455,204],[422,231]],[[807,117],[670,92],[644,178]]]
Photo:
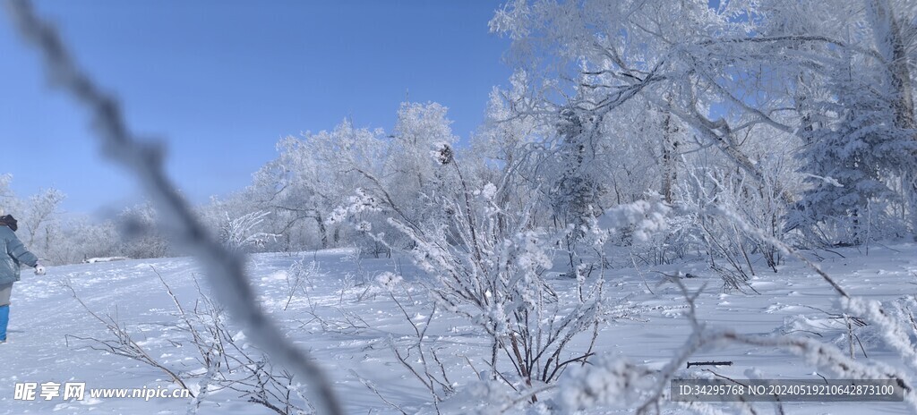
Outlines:
[[20,34],[43,55],[52,80],[89,109],[105,155],[133,171],[152,202],[169,219],[164,223],[175,224],[169,229],[173,239],[202,262],[216,298],[245,327],[252,342],[309,385],[310,398],[319,413],[342,414],[324,372],[306,352],[290,344],[276,324],[260,311],[242,257],[216,243],[174,191],[162,169],[160,147],[141,141],[128,130],[115,99],[103,93],[77,68],[57,30],[36,16],[28,0],[8,0],[6,5]]

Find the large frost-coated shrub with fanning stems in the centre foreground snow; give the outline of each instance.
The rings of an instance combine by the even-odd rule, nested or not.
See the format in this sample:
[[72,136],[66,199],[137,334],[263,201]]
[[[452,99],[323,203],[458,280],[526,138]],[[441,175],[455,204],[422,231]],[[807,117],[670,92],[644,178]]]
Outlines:
[[[447,222],[390,222],[416,245],[411,254],[434,283],[430,292],[446,311],[465,316],[491,339],[492,380],[525,390],[557,379],[566,366],[582,363],[591,350],[568,350],[570,341],[595,335],[604,318],[602,279],[580,280],[581,295],[567,299],[550,289],[546,272],[552,267],[562,233],[534,228],[531,208],[508,212],[494,193],[502,190],[481,183],[474,189],[453,161],[458,189],[436,202]],[[475,186],[477,188],[478,186]],[[503,190],[505,191],[505,190]],[[507,366],[512,376],[503,375]]]

